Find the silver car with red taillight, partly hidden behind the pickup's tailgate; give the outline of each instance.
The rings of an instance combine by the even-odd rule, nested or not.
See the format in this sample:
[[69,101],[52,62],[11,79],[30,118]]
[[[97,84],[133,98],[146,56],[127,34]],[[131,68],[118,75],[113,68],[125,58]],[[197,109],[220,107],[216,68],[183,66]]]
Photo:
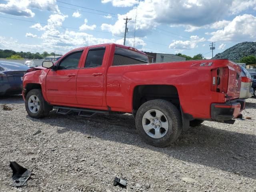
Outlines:
[[253,95],[253,88],[252,88],[252,78],[250,73],[242,66],[241,67],[241,90],[240,90],[240,99],[248,99]]

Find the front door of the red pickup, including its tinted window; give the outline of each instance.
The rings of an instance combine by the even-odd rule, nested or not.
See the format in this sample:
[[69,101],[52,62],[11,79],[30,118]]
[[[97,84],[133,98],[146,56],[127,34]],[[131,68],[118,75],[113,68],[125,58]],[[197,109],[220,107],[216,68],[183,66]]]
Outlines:
[[57,70],[46,76],[46,96],[49,102],[77,104],[76,78],[83,50],[71,52],[58,63]]

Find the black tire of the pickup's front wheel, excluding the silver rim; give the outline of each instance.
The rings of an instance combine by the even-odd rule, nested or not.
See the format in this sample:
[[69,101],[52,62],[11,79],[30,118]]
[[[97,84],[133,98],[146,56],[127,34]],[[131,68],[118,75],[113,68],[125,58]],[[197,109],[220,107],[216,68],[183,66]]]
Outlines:
[[[28,100],[29,100],[30,96],[32,96],[32,95],[37,96],[38,99],[39,99],[39,102],[40,102],[40,108],[36,113],[32,113],[28,108]],[[26,95],[25,107],[26,107],[26,111],[27,111],[27,113],[30,117],[38,119],[38,118],[42,118],[42,117],[47,116],[49,111],[44,110],[44,104],[45,104],[45,102],[44,102],[44,98],[43,98],[43,95],[42,95],[42,90],[32,89]]]

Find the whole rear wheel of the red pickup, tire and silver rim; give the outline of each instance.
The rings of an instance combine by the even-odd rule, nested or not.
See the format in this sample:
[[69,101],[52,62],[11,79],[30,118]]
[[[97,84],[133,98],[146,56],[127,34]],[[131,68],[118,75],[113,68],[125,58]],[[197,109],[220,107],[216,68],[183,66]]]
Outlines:
[[145,102],[136,113],[136,127],[150,145],[165,147],[178,139],[182,132],[182,118],[172,103],[156,99]]

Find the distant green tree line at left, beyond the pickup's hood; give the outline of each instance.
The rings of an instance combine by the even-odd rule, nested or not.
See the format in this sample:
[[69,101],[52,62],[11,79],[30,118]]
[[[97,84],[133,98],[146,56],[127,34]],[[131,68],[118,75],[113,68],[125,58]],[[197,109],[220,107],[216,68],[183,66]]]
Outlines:
[[36,53],[31,53],[31,52],[15,52],[13,50],[2,50],[0,49],[0,58],[8,58],[8,59],[43,59],[47,56],[50,55],[56,55],[56,56],[61,56],[60,54],[54,54],[54,52],[48,53],[48,52],[43,52],[40,54],[39,52]]

